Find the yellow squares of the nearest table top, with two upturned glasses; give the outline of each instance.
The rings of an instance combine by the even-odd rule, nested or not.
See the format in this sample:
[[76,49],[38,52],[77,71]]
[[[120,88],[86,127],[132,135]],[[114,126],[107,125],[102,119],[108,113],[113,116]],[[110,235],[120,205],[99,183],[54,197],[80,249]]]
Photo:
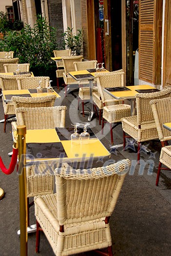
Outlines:
[[[66,128],[62,128],[66,129]],[[73,128],[74,133],[74,128]],[[13,137],[16,137],[17,132],[13,133]],[[55,129],[42,129],[42,130],[27,130],[26,131],[26,143],[55,143],[59,142],[61,144],[60,148],[64,149],[66,156],[63,161],[67,162],[74,160],[88,160],[91,158],[99,157],[110,157],[110,152],[103,146],[98,138],[90,138],[87,143],[79,142],[77,145],[73,144],[70,139],[60,140]],[[61,151],[62,152],[62,151]],[[40,152],[41,153],[41,152]],[[36,161],[52,161],[56,160],[61,162],[61,158],[36,158]]]

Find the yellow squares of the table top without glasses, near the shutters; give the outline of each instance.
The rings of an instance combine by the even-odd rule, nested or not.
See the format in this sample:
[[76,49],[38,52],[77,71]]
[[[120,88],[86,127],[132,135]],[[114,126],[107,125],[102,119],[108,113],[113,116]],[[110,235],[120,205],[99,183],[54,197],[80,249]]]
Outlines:
[[135,95],[138,93],[135,90],[154,89],[153,86],[148,85],[148,84],[127,86],[127,88],[129,88],[130,91],[109,92],[106,89],[104,89],[104,91],[116,99],[127,99],[127,98],[135,98]]

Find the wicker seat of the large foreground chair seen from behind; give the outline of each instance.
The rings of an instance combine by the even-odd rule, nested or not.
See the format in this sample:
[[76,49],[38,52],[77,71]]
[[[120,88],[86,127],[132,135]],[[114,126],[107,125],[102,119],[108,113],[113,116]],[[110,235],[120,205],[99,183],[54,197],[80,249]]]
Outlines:
[[[100,219],[77,222],[75,225],[66,224],[64,234],[61,234],[57,220],[56,194],[35,198],[35,209],[38,222],[56,256],[73,255],[112,245],[109,224],[105,224]],[[44,215],[45,209],[48,211],[46,216]]]

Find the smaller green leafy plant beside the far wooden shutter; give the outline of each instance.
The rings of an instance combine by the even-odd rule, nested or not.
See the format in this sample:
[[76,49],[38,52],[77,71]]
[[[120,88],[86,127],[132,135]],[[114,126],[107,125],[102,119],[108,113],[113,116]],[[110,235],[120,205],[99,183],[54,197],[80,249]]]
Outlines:
[[73,54],[80,55],[82,52],[82,30],[77,29],[77,35],[73,35],[73,28],[67,28],[63,33],[65,46],[71,49]]

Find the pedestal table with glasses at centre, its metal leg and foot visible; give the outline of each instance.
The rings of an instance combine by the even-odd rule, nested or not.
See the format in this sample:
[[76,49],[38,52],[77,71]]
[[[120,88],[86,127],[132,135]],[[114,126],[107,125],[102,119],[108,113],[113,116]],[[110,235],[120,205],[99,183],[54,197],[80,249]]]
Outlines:
[[[98,72],[105,73],[109,72],[107,70]],[[83,80],[89,80],[89,86],[90,86],[90,111],[89,111],[89,117],[88,121],[91,121],[93,118],[93,115],[95,113],[94,111],[94,105],[93,105],[93,80],[95,79],[95,70],[79,70],[79,71],[72,71],[69,72],[69,75],[76,79],[76,81],[83,81]]]

